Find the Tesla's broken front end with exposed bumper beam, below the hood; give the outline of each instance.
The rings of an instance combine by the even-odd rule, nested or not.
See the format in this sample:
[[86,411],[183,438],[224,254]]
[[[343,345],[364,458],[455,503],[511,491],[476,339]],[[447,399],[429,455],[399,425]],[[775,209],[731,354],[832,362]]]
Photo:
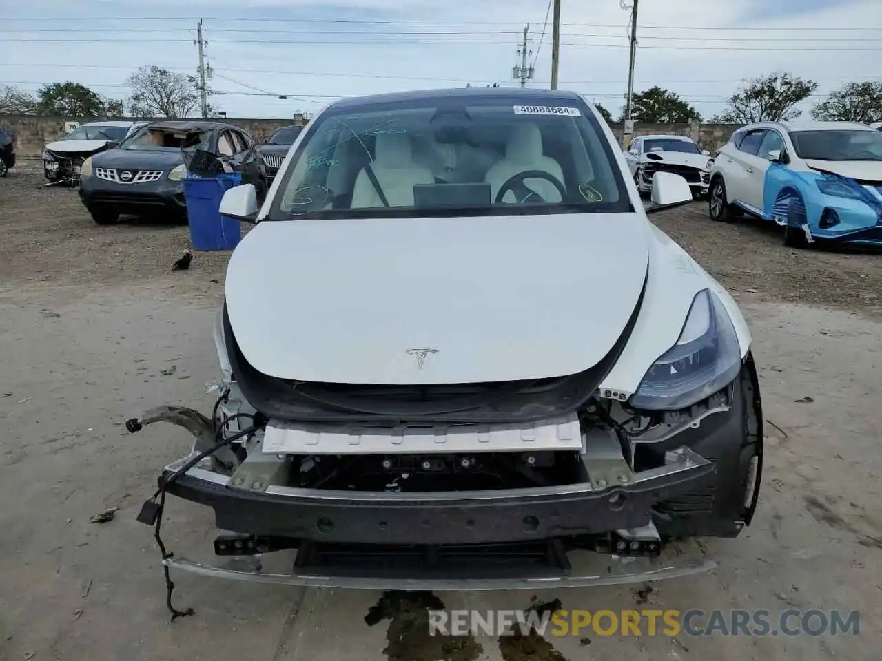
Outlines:
[[[225,379],[212,419],[161,407],[128,423],[172,422],[196,437],[162,472],[162,498],[211,507],[213,552],[227,557],[209,565],[163,550],[166,567],[427,590],[626,583],[713,567],[672,563],[663,549],[677,538],[735,537],[751,521],[762,455],[751,354],[705,399],[641,411],[598,389],[624,336],[594,368],[554,378],[299,382],[253,368],[224,313],[215,341]],[[277,551],[293,556],[293,571],[262,569]],[[582,569],[591,558],[601,572]]]

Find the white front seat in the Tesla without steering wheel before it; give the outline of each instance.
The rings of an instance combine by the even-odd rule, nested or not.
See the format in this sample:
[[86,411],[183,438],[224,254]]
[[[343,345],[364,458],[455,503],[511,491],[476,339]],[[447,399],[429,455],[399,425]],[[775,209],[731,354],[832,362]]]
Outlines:
[[[371,165],[377,183],[390,206],[413,206],[414,186],[418,183],[435,183],[435,176],[428,167],[414,161],[410,138],[406,133],[380,133],[374,150]],[[377,187],[370,181],[368,173],[362,171],[355,177],[352,193],[352,208],[365,209],[383,206]]]

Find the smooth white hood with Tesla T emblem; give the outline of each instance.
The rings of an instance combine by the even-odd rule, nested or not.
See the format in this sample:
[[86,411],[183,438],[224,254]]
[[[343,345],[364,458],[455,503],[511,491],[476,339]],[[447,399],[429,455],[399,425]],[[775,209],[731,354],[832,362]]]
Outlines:
[[244,358],[281,378],[568,375],[622,335],[650,238],[637,213],[265,220],[230,259],[228,316]]

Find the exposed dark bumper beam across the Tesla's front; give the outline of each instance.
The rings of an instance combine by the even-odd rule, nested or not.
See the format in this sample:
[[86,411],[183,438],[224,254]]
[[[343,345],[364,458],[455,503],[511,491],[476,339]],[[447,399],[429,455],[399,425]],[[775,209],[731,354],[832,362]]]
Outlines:
[[[167,466],[163,479],[179,464]],[[712,462],[682,447],[631,483],[604,488],[584,482],[473,492],[254,491],[193,468],[168,493],[211,507],[226,531],[334,543],[486,544],[638,528],[656,502],[694,492],[714,471]]]

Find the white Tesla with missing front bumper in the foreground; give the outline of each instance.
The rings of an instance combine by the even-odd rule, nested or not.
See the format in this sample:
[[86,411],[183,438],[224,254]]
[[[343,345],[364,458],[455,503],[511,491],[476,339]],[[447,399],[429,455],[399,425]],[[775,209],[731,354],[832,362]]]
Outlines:
[[[662,172],[653,200],[648,212],[691,193]],[[166,406],[128,421],[197,438],[138,518],[158,533],[174,494],[214,510],[217,555],[296,554],[268,574],[162,546],[167,570],[533,590],[706,569],[663,546],[750,524],[763,447],[750,332],[648,221],[579,95],[336,101],[259,211],[242,185],[221,213],[257,223],[214,329],[221,396],[211,417]],[[583,572],[597,553],[604,569]]]

